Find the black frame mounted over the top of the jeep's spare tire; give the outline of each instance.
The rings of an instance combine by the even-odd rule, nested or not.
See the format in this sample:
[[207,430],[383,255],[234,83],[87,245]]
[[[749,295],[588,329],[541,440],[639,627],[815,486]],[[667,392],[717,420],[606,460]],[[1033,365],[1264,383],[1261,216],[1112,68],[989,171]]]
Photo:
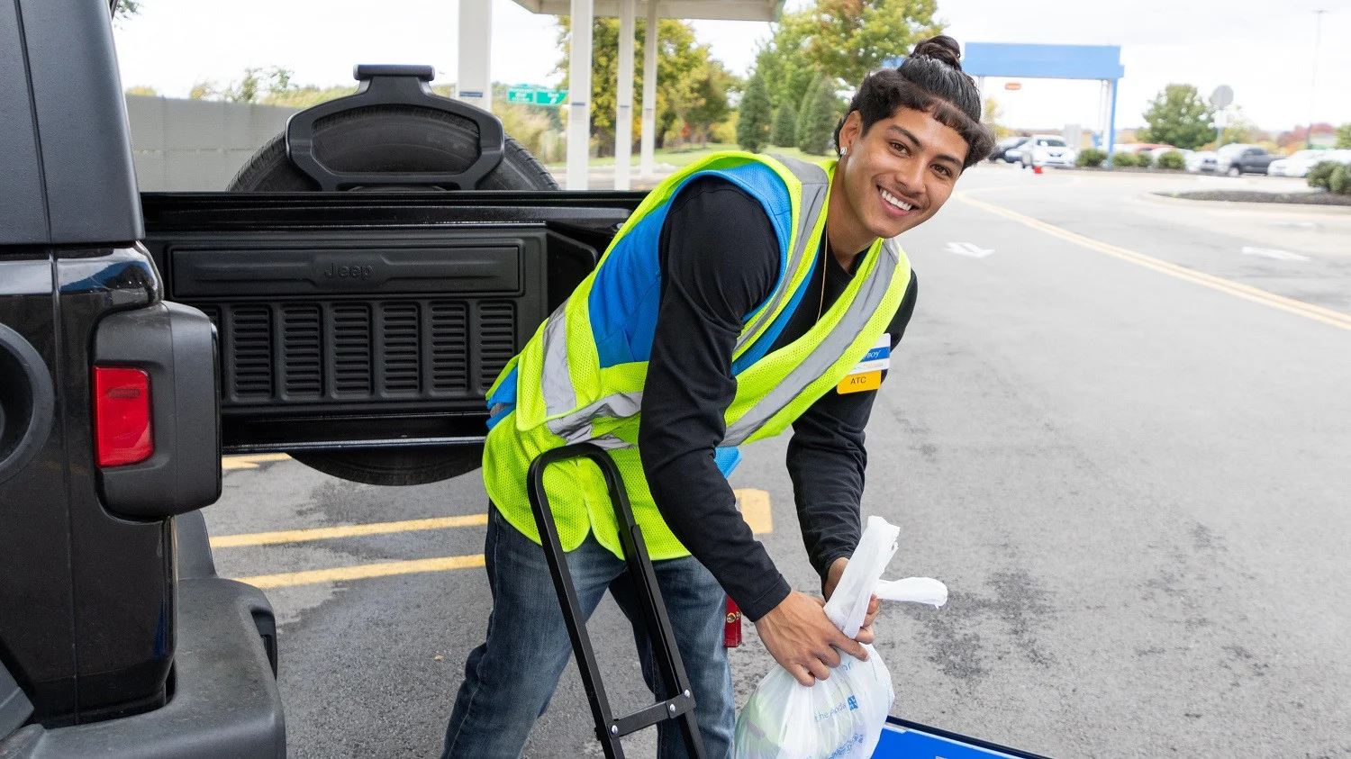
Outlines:
[[[440,97],[427,85],[436,77],[431,66],[358,65],[353,76],[361,82],[354,95],[320,103],[293,115],[286,122],[286,155],[297,169],[319,182],[319,189],[334,192],[370,185],[453,186],[471,190],[503,161],[507,132],[503,123],[488,111],[467,103]],[[315,155],[315,124],[327,116],[370,105],[415,105],[453,113],[478,127],[478,158],[458,174],[439,172],[335,172]]]

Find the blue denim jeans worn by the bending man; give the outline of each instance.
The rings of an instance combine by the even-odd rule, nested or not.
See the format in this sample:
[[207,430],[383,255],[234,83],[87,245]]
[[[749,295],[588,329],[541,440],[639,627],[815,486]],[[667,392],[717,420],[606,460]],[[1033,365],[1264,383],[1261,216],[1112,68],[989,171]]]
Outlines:
[[[465,681],[446,727],[443,759],[516,758],[535,718],[544,713],[573,652],[544,551],[512,527],[493,506],[488,517],[484,559],[493,612],[488,640],[465,662]],[[654,562],[676,646],[689,674],[694,716],[711,759],[732,755],[736,712],[732,673],[723,648],[724,593],[693,556]],[[654,693],[661,674],[643,625],[642,608],[624,562],[588,536],[567,554],[577,602],[590,614],[608,589],[634,625],[643,679]],[[661,759],[686,756],[680,728],[658,727]]]

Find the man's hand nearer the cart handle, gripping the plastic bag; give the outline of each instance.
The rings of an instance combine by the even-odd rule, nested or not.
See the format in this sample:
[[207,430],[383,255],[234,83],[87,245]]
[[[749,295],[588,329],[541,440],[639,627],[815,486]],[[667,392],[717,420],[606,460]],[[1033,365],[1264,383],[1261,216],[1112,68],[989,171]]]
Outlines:
[[821,610],[824,605],[820,598],[794,590],[755,623],[755,631],[774,660],[808,687],[817,679],[828,678],[830,667],[840,663],[835,648],[867,660],[867,651],[831,624]]

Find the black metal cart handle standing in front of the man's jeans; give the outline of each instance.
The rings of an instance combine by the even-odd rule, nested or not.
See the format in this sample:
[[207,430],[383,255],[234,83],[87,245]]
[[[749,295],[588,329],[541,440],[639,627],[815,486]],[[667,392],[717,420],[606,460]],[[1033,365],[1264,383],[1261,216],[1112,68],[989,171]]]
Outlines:
[[[609,490],[611,505],[615,508],[615,519],[620,525],[619,540],[624,548],[624,563],[628,566],[628,575],[638,590],[639,604],[643,608],[643,621],[653,642],[655,663],[662,682],[667,687],[674,685],[674,693],[667,698],[621,717],[615,717],[609,708],[609,700],[605,697],[605,685],[601,682],[596,654],[592,650],[590,636],[586,633],[586,619],[577,604],[571,573],[567,571],[567,560],[558,539],[558,525],[554,524],[554,513],[544,492],[544,470],[549,469],[549,465],[574,458],[590,459],[605,477],[605,488]],[[563,609],[563,621],[567,624],[567,635],[573,642],[577,669],[582,675],[582,686],[586,689],[592,717],[596,720],[596,739],[600,740],[605,756],[623,759],[624,750],[619,743],[621,736],[665,720],[678,720],[681,737],[685,740],[689,755],[694,759],[703,759],[704,741],[694,721],[694,696],[690,693],[689,677],[685,674],[685,663],[681,662],[680,650],[674,643],[676,636],[666,616],[666,604],[662,602],[662,593],[657,586],[657,573],[653,570],[653,562],[647,556],[647,546],[643,543],[643,531],[634,520],[628,493],[624,490],[624,479],[620,477],[619,467],[615,466],[615,459],[609,458],[604,448],[592,443],[563,446],[544,451],[531,462],[527,483],[530,508],[535,513],[535,525],[539,528],[539,542],[544,548],[549,574],[554,578],[554,590],[558,593],[558,602]]]

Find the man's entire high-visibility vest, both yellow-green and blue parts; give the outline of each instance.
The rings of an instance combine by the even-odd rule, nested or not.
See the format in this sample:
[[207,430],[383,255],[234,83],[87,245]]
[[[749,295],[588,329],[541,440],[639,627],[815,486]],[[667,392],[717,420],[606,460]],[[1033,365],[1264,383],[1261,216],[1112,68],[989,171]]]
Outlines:
[[[653,502],[639,458],[638,425],[661,294],[658,240],[671,199],[705,174],[755,197],[780,248],[770,296],[744,319],[732,352],[736,396],[715,459],[728,474],[736,446],[782,432],[835,388],[886,331],[905,294],[911,266],[896,239],[878,240],[854,280],[800,339],[770,352],[820,259],[835,162],[807,163],[719,153],[658,185],[624,223],[596,269],[549,316],[488,392],[484,483],[503,516],[539,543],[526,473],[539,454],[569,443],[609,448],[653,559],[686,556]],[[588,532],[623,556],[600,470],[585,459],[551,465],[544,489],[565,551]]]

